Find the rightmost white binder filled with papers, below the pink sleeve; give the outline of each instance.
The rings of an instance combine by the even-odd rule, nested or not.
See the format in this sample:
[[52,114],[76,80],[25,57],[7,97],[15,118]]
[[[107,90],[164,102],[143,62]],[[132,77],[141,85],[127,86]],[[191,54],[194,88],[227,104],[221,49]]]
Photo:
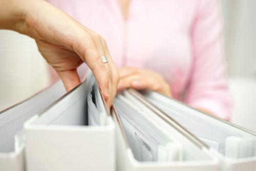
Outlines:
[[165,117],[176,120],[185,130],[207,144],[219,158],[222,170],[255,170],[255,133],[204,114],[157,92],[143,91],[141,95],[140,97],[153,104]]

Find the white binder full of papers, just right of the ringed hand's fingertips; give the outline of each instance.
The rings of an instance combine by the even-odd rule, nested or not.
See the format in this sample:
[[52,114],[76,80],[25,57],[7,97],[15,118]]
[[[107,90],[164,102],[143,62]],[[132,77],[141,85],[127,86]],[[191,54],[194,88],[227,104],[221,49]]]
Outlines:
[[207,145],[123,91],[115,101],[117,170],[218,170]]

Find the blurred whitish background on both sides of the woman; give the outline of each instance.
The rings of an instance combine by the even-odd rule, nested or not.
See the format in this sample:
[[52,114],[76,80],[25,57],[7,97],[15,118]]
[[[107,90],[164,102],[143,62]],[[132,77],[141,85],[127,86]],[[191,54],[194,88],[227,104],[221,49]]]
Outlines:
[[[231,122],[256,132],[256,1],[222,0],[221,5],[234,99]],[[49,84],[47,64],[33,39],[0,30],[0,79],[0,111]]]

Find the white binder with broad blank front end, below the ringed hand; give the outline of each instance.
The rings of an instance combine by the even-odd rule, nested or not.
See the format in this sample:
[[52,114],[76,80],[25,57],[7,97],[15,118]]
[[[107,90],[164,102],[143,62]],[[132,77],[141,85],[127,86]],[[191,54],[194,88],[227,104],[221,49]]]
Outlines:
[[27,170],[115,170],[114,131],[90,73],[25,123]]

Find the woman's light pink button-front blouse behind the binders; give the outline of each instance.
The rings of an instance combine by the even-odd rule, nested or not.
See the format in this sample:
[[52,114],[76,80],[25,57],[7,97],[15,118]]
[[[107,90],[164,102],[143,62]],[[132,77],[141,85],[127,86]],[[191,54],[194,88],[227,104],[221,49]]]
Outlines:
[[126,21],[118,0],[49,2],[102,35],[117,68],[161,73],[174,98],[230,119],[218,1],[131,0]]

